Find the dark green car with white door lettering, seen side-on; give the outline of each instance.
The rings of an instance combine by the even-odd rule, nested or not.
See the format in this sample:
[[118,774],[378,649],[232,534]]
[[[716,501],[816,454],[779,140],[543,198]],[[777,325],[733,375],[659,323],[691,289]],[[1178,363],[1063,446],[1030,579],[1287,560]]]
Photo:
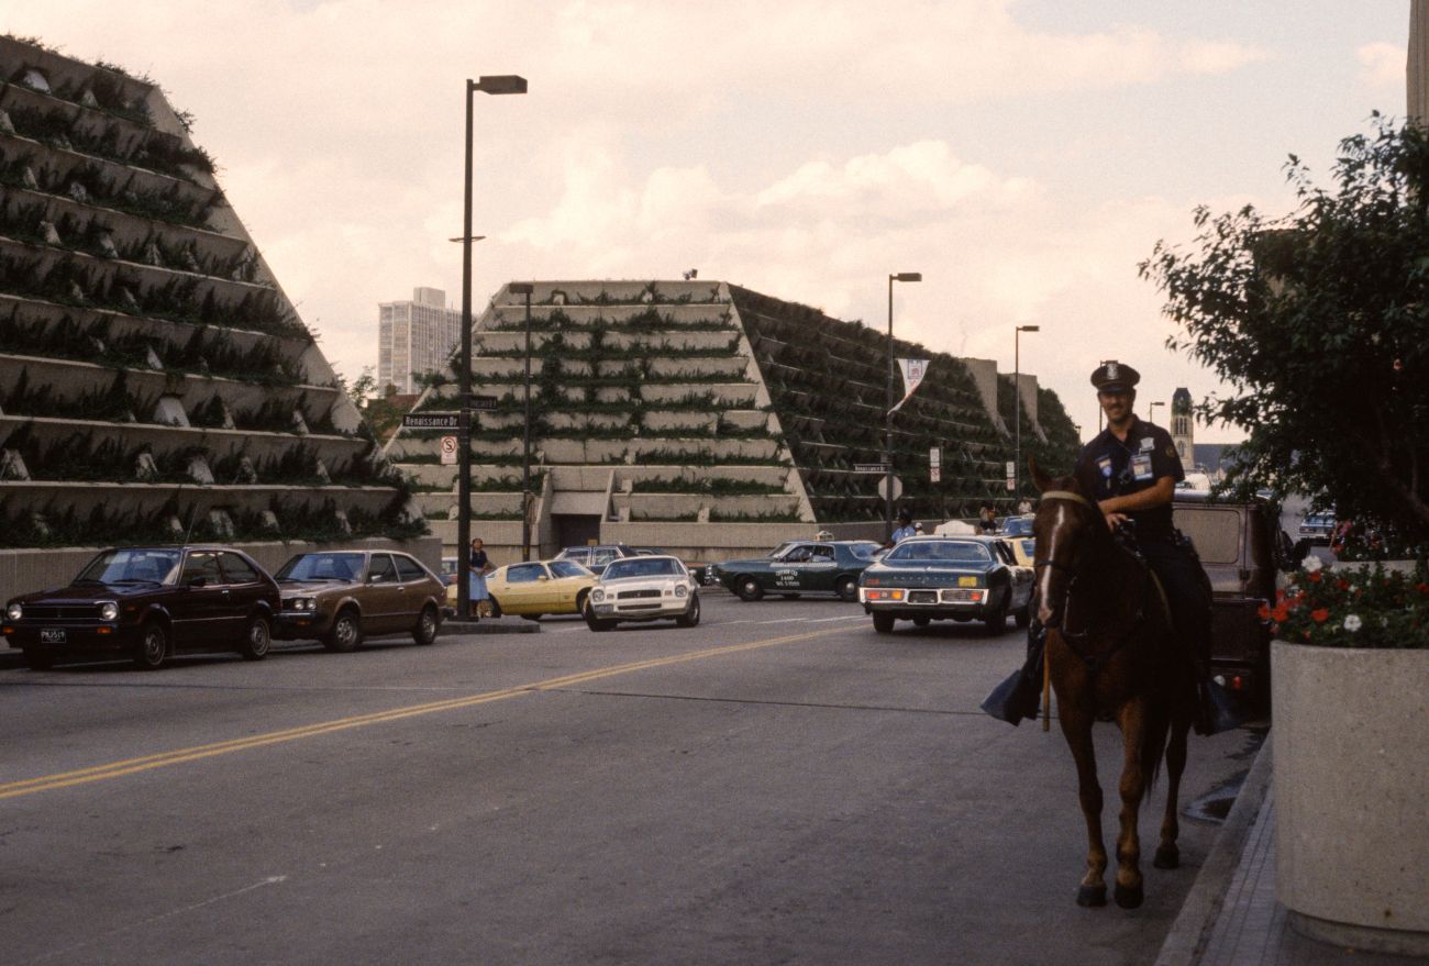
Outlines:
[[709,582],[729,587],[740,600],[759,600],[766,593],[832,593],[857,600],[859,574],[877,552],[873,540],[792,540],[766,557],[713,563]]

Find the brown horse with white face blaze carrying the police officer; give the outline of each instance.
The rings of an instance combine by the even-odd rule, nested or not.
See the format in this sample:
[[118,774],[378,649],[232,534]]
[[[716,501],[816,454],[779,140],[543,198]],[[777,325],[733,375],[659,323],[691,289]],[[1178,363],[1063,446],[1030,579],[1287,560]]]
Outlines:
[[1113,895],[1117,906],[1135,909],[1143,897],[1136,822],[1163,753],[1169,789],[1155,865],[1180,865],[1176,797],[1196,707],[1195,673],[1176,646],[1155,576],[1112,536],[1096,502],[1080,492],[1075,477],[1053,480],[1035,462],[1032,474],[1042,490],[1033,523],[1037,620],[1047,629],[1046,667],[1062,733],[1076,760],[1089,845],[1076,900],[1079,906],[1106,905],[1102,786],[1092,724],[1110,717],[1122,729],[1125,746]]

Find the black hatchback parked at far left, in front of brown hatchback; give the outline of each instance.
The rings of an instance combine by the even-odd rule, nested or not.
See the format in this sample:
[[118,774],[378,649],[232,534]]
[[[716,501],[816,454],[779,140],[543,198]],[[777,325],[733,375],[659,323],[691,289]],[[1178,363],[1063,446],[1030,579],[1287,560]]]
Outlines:
[[153,670],[181,650],[262,660],[280,606],[277,583],[242,550],[117,547],[67,587],[11,599],[0,633],[36,670],[116,654]]

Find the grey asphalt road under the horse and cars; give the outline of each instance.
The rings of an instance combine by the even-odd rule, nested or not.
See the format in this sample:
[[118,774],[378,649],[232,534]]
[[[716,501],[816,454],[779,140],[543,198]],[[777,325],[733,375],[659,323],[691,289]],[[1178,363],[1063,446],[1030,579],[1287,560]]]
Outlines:
[[[1022,646],[707,593],[692,630],[0,670],[0,962],[1152,962],[1216,825],[1079,909],[1060,733],[977,712]],[[1260,736],[1193,737],[1183,802]]]

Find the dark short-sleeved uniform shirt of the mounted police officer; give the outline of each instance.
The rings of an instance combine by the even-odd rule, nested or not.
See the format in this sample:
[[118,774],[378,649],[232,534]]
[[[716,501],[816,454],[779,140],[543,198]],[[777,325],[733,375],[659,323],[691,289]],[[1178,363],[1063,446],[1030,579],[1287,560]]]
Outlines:
[[[1082,447],[1073,473],[1096,500],[1149,490],[1163,476],[1176,483],[1186,479],[1170,433],[1139,419],[1132,420],[1125,440],[1106,429]],[[1126,516],[1136,522],[1137,540],[1170,542],[1173,537],[1169,503]]]

